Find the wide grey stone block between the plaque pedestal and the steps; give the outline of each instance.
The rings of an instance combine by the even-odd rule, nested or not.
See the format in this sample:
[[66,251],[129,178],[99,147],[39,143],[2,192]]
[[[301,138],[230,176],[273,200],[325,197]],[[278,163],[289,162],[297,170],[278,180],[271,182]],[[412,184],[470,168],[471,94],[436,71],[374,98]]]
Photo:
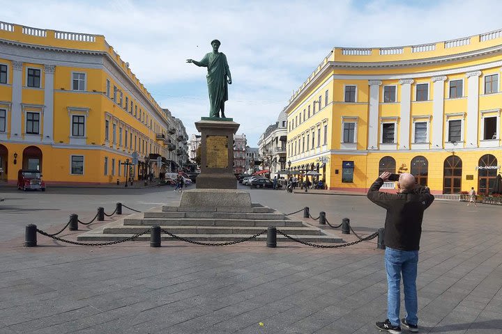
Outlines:
[[183,191],[179,207],[251,207],[251,196],[241,190],[192,189]]

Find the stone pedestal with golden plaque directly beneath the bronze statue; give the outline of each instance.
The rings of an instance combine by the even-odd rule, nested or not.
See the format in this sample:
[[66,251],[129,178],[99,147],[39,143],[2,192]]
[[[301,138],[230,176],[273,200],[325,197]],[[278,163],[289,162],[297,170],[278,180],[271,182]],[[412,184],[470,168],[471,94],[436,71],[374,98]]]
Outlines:
[[234,175],[234,134],[239,124],[203,118],[195,122],[201,132],[201,173],[197,189],[237,189]]

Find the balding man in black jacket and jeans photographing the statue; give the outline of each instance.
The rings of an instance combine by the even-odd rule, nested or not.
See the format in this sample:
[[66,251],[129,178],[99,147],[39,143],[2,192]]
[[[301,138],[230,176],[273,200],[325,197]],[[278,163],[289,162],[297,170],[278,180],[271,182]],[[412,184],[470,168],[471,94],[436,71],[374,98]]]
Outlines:
[[381,331],[401,333],[400,326],[400,283],[404,286],[406,317],[401,323],[411,332],[418,331],[418,301],[416,276],[418,249],[422,233],[423,212],[434,201],[426,186],[415,184],[415,177],[409,173],[400,175],[398,193],[379,191],[390,173],[382,173],[367,193],[375,204],[387,210],[383,241],[386,245],[385,264],[387,271],[387,318],[377,322]]

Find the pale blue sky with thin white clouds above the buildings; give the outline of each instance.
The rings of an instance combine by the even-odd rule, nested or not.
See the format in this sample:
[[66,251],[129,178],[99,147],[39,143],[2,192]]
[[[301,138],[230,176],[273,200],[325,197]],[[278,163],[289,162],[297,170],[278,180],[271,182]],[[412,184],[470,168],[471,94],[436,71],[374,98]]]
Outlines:
[[206,69],[185,63],[222,42],[232,76],[225,114],[248,145],[333,47],[417,45],[502,28],[502,1],[10,1],[0,21],[105,35],[188,135],[208,116]]

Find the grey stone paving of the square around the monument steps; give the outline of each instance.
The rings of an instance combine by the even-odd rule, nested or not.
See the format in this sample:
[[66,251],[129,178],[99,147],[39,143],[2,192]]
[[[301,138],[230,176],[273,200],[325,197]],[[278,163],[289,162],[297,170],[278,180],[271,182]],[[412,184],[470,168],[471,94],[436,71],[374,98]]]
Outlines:
[[[362,235],[383,225],[383,209],[362,196],[250,193],[282,212],[309,206],[312,216],[325,211],[337,224],[347,216]],[[120,201],[144,210],[175,203],[179,194],[167,187],[0,189],[0,197],[6,198],[0,333],[378,333],[374,322],[386,317],[383,251],[371,242],[338,249],[181,241],[91,248],[38,234],[39,246],[24,248],[26,223],[56,232],[73,212],[86,221],[98,206],[112,212]],[[440,200],[427,210],[418,266],[420,333],[502,333],[501,212]]]

